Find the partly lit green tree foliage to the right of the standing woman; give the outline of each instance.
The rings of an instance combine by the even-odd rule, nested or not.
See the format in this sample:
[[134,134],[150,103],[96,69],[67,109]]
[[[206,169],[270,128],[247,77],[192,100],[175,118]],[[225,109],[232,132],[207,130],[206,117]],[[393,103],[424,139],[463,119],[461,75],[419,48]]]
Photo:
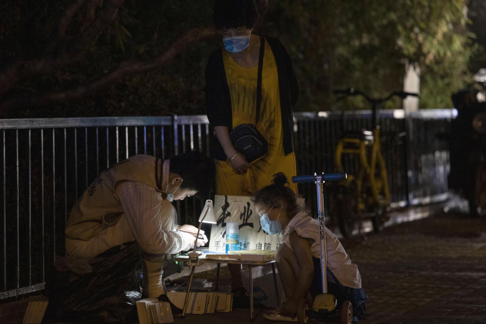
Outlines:
[[[312,110],[332,105],[333,88],[355,87],[374,96],[400,90],[407,63],[420,66],[420,106],[445,108],[451,107],[451,92],[471,77],[466,5],[466,0],[281,0],[266,21],[290,47]],[[353,103],[366,107],[359,99]]]

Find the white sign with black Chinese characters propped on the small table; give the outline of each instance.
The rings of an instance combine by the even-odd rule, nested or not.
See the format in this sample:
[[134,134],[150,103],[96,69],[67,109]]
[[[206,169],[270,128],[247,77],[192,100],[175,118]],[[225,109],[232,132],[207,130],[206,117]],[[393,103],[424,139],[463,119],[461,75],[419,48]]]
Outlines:
[[209,251],[226,252],[226,222],[238,222],[238,250],[275,251],[282,244],[281,233],[267,234],[260,226],[260,215],[249,196],[216,195],[214,213],[217,223],[211,227]]

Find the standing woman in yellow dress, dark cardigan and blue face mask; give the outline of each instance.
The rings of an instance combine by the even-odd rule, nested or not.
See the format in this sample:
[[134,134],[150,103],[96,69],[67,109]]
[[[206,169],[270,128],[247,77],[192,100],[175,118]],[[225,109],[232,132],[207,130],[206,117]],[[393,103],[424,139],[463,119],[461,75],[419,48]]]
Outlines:
[[[213,20],[224,45],[213,53],[206,68],[206,109],[215,134],[216,194],[251,195],[270,183],[277,172],[288,178],[296,175],[292,107],[299,86],[292,60],[280,41],[253,34],[258,20],[255,0],[216,0]],[[268,142],[267,153],[251,164],[230,139],[231,131],[240,124],[256,125]],[[295,184],[290,187],[297,192]]]

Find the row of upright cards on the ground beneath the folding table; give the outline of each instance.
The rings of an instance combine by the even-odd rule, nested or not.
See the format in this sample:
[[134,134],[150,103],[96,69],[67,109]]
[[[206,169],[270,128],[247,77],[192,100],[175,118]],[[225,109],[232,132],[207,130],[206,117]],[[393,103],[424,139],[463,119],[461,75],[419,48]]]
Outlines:
[[[177,307],[181,309],[184,307],[185,292],[168,292],[167,297]],[[186,306],[187,314],[211,314],[232,310],[233,294],[231,293],[189,293]]]

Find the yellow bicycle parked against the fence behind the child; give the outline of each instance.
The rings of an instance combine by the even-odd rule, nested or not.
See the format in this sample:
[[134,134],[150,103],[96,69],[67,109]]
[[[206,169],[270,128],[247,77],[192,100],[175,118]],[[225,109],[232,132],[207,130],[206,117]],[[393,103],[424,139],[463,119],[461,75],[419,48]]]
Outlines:
[[358,156],[359,169],[356,175],[346,171],[348,177],[338,183],[332,191],[331,213],[336,218],[339,229],[344,237],[349,237],[358,221],[371,218],[374,231],[383,228],[386,220],[386,209],[390,205],[390,190],[388,188],[385,160],[381,153],[380,125],[378,114],[380,105],[398,96],[402,99],[417,94],[407,92],[393,92],[386,98],[371,98],[353,88],[335,90],[338,98],[360,95],[373,104],[373,130],[346,132],[336,145],[334,156],[334,171],[345,172],[343,156],[354,154]]

